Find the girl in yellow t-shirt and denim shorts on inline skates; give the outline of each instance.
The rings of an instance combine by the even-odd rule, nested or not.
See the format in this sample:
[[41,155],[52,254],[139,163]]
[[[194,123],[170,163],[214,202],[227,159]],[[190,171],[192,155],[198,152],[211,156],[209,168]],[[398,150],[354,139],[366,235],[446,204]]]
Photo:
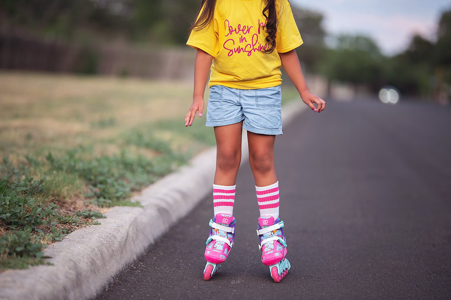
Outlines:
[[326,105],[305,83],[294,50],[302,43],[288,0],[202,0],[189,30],[186,44],[196,49],[197,55],[193,104],[185,116],[185,127],[193,124],[197,112],[202,117],[211,70],[206,125],[214,127],[217,149],[205,280],[216,273],[234,244],[233,204],[243,128],[248,134],[249,163],[260,209],[257,234],[262,262],[269,266],[275,282],[290,269],[273,156],[275,137],[282,134],[281,66],[313,111],[321,112]]

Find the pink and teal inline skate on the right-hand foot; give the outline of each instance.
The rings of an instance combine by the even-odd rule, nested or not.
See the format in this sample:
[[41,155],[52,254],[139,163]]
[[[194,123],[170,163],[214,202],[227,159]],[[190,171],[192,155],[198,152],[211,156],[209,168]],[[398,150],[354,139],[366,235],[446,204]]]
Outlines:
[[258,218],[257,235],[260,238],[258,247],[262,250],[262,263],[269,266],[271,277],[280,282],[286,276],[291,265],[286,256],[286,240],[283,234],[283,221],[274,220],[271,216]]

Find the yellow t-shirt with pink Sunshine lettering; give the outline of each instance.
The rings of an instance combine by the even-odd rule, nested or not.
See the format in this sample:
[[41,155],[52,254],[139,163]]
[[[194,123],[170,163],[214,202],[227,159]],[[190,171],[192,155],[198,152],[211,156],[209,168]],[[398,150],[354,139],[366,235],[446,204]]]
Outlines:
[[186,44],[213,56],[208,87],[218,84],[254,89],[281,84],[278,52],[288,52],[303,42],[289,2],[276,0],[276,49],[272,53],[263,52],[270,45],[262,28],[266,23],[262,2],[265,1],[217,0],[210,26],[191,32]]

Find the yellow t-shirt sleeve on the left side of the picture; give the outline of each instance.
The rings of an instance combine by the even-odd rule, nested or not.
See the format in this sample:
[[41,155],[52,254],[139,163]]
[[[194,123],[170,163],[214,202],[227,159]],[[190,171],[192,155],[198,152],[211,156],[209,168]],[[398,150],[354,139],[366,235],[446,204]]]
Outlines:
[[[196,21],[202,13],[202,10],[203,7],[199,12]],[[213,18],[213,21],[205,28],[191,31],[186,44],[196,50],[201,49],[215,57],[220,50],[217,19]]]

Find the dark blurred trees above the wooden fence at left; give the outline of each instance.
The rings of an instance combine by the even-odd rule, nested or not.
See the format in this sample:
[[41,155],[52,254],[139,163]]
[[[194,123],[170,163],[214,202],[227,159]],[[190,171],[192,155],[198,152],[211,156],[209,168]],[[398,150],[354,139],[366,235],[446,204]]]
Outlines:
[[[201,0],[1,0],[0,26],[69,40],[184,44]],[[158,42],[156,42],[158,41]]]

